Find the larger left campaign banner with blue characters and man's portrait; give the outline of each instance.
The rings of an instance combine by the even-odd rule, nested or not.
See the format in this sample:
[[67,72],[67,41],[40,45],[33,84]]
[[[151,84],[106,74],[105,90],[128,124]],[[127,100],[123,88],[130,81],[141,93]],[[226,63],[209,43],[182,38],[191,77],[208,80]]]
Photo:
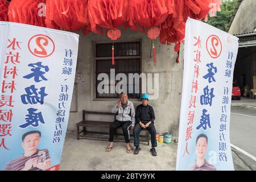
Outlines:
[[0,22],[0,169],[59,169],[79,35]]

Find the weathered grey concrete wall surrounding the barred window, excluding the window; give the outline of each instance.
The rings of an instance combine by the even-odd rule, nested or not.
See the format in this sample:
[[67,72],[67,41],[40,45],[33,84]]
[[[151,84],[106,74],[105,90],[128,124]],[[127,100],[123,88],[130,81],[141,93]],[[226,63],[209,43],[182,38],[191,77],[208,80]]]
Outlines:
[[[171,131],[177,137],[179,129],[179,115],[181,103],[181,90],[183,81],[183,49],[180,51],[180,63],[176,63],[174,45],[164,46],[155,41],[157,63],[150,58],[151,40],[145,34],[127,30],[122,32],[121,38],[115,42],[141,41],[142,72],[159,73],[159,97],[150,100],[149,104],[154,107],[156,120],[155,126],[158,133]],[[82,35],[79,40],[79,55],[77,72],[82,73],[81,80],[77,82],[77,112],[70,113],[68,130],[76,130],[76,123],[82,120],[82,110],[110,111],[117,99],[96,98],[95,88],[95,44],[111,43],[106,35]],[[84,82],[84,84],[82,83]],[[141,104],[138,99],[131,99],[134,106]],[[99,116],[96,116],[99,117]],[[112,121],[113,118],[94,118],[103,121]]]

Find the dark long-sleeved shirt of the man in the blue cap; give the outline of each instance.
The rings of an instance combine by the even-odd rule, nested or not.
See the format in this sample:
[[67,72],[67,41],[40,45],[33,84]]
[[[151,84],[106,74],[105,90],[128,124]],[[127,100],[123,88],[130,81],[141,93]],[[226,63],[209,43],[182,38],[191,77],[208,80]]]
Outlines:
[[155,113],[153,107],[150,105],[138,105],[135,111],[135,121],[136,123],[139,123],[140,121],[142,121],[143,123],[151,121],[151,123],[154,124]]

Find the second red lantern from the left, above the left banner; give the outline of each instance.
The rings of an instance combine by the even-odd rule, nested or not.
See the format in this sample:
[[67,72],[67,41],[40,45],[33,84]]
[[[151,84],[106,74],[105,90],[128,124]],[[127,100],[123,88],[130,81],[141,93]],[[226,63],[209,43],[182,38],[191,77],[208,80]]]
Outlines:
[[9,21],[46,27],[46,0],[12,0],[9,5]]

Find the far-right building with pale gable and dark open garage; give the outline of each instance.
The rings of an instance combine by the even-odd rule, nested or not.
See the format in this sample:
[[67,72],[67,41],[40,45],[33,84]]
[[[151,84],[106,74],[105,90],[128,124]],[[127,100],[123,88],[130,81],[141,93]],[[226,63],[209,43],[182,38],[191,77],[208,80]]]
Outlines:
[[229,23],[228,32],[240,39],[234,81],[238,82],[242,91],[244,88],[253,89],[252,77],[256,75],[255,10],[256,1],[238,0],[237,8]]

